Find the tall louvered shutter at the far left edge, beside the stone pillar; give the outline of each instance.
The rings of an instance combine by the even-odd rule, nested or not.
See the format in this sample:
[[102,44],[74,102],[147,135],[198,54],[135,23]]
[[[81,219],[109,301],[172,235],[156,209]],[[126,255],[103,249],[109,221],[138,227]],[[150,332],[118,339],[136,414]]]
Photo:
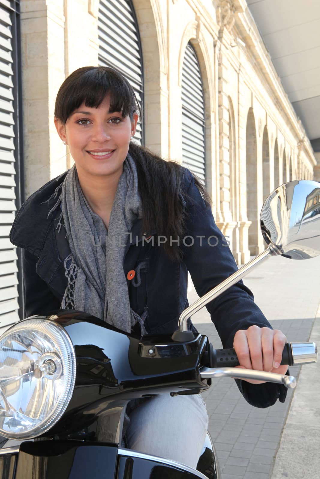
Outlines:
[[2,4],[6,3],[0,3],[0,333],[19,319],[18,257],[9,240],[16,214],[12,22]]

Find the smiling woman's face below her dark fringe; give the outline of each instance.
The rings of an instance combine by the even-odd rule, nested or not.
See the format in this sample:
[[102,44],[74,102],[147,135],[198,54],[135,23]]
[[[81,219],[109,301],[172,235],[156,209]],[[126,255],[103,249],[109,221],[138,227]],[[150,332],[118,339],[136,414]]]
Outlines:
[[[83,103],[61,125],[55,118],[59,137],[66,141],[78,173],[91,175],[121,175],[123,162],[128,154],[130,137],[135,134],[138,114],[122,118],[121,112],[109,113],[110,97],[98,108]],[[107,152],[107,156],[94,155]],[[112,153],[111,153],[112,151]]]

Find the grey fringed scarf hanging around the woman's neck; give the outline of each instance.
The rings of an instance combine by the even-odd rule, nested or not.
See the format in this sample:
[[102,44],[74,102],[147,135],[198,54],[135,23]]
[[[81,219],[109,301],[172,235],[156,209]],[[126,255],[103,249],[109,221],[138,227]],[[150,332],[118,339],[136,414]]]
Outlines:
[[[63,219],[71,250],[64,261],[68,286],[60,308],[84,311],[126,332],[130,332],[138,321],[143,335],[144,318],[130,308],[123,270],[129,233],[133,223],[142,218],[134,160],[128,153],[119,178],[108,229],[84,197],[75,165],[61,185],[57,188],[61,194],[49,212],[61,202],[59,229]],[[57,197],[58,194],[56,191],[54,195]]]

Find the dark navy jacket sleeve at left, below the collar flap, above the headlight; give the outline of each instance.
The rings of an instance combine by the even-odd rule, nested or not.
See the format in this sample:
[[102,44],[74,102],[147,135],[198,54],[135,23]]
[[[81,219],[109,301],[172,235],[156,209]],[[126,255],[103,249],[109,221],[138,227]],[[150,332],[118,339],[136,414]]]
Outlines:
[[36,262],[37,257],[23,248],[24,318],[35,314],[46,315],[60,308],[59,299],[36,273]]

